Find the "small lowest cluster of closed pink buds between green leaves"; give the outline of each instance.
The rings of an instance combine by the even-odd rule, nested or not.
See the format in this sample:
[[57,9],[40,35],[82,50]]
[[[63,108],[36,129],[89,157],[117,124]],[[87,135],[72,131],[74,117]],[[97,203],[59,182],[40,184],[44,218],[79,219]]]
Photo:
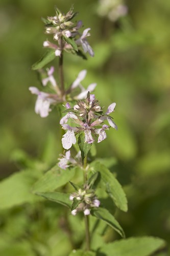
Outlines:
[[89,215],[91,208],[100,206],[100,201],[96,198],[94,190],[89,189],[88,186],[84,189],[79,188],[77,192],[70,195],[69,199],[77,201],[78,204],[76,209],[71,211],[74,216],[79,211],[83,211],[84,215]]

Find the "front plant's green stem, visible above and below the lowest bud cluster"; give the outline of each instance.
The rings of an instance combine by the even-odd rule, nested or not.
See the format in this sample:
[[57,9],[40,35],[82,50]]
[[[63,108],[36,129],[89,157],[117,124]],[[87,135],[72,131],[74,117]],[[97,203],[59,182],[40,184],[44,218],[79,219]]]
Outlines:
[[[87,166],[87,156],[84,158],[84,161],[83,161],[84,183],[87,182],[87,170],[86,170],[86,166]],[[85,220],[85,231],[86,231],[86,250],[89,251],[89,250],[90,250],[89,216],[88,216],[88,215],[85,215],[85,216],[84,216],[84,220]]]

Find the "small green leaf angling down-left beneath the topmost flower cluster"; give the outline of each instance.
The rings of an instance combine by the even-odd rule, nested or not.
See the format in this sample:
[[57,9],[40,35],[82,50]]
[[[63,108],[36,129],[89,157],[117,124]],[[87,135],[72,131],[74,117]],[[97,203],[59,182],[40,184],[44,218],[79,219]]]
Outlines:
[[48,49],[48,51],[32,66],[32,70],[42,69],[47,63],[55,59],[55,50]]

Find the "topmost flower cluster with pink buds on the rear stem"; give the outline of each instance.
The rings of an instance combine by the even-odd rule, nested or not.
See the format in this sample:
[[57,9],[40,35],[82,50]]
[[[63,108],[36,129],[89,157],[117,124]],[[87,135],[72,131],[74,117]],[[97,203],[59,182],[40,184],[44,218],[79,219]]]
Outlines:
[[[90,28],[80,33],[79,29],[82,27],[81,20],[77,24],[71,21],[76,14],[77,13],[74,13],[72,8],[66,14],[61,13],[61,11],[56,8],[55,16],[47,17],[46,19],[43,18],[45,33],[53,34],[53,39],[57,42],[57,44],[53,44],[46,40],[43,42],[43,46],[54,49],[56,56],[60,56],[62,50],[66,52],[78,52],[79,46],[82,46],[85,53],[88,52],[90,56],[94,56],[94,52],[86,39],[90,36]],[[61,38],[63,38],[64,41],[62,41]]]

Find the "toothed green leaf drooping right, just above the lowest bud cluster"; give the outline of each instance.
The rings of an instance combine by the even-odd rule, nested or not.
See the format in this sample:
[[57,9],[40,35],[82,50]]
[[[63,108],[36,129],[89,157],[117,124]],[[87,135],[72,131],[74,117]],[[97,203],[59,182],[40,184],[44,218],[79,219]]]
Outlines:
[[90,166],[93,173],[100,172],[105,190],[112,198],[115,205],[120,210],[127,211],[128,204],[125,192],[110,170],[100,162],[92,162]]

